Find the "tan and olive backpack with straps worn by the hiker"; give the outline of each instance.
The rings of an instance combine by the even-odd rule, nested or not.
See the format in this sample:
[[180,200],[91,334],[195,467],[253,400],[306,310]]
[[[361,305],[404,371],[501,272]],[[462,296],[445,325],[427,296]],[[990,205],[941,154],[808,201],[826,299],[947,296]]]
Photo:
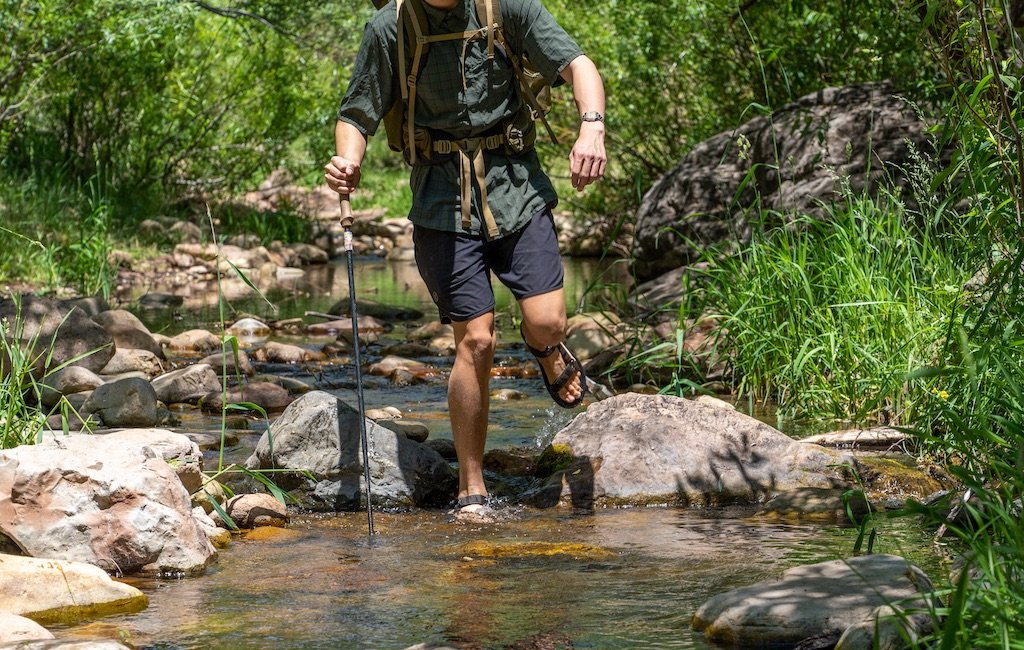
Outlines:
[[[377,8],[381,8],[388,0],[374,0]],[[427,16],[424,13],[422,0],[395,0],[398,30],[398,77],[401,83],[401,101],[395,102],[384,117],[384,130],[387,133],[388,146],[395,151],[402,151],[406,161],[415,165],[418,158],[431,159],[435,151],[443,153],[443,142],[435,142],[425,129],[417,129],[416,115],[416,80],[422,70],[430,43],[456,39],[468,40],[485,35],[487,39],[487,57],[494,58],[495,46],[499,45],[512,63],[512,70],[518,81],[519,96],[528,111],[528,125],[515,125],[506,128],[507,138],[503,145],[511,154],[518,154],[532,145],[535,139],[534,121],[540,121],[547,130],[548,136],[555,144],[551,125],[547,114],[551,110],[551,86],[547,80],[530,64],[525,55],[517,53],[509,46],[502,29],[502,12],[500,0],[474,0],[476,4],[477,21],[483,26],[479,30],[456,32],[453,34],[430,34]],[[524,133],[528,131],[528,133]],[[517,135],[512,135],[517,134]]]

